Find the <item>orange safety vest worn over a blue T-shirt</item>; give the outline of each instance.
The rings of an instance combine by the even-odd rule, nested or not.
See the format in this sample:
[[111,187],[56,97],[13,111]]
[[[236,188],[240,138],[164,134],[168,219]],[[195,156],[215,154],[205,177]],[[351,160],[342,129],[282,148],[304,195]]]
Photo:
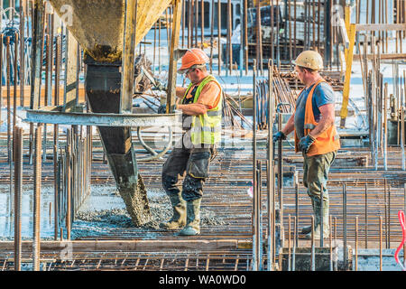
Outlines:
[[[325,79],[320,79],[313,88],[310,90],[308,99],[306,100],[306,108],[305,108],[305,122],[304,122],[304,135],[309,135],[310,131],[315,128],[318,123],[314,120],[313,114],[313,106],[311,103],[311,99],[313,98],[314,89],[320,84],[321,82],[326,82]],[[303,92],[304,89],[301,89],[300,94]],[[299,95],[300,95],[299,94]],[[296,107],[295,107],[296,113]],[[295,128],[295,152],[300,152],[299,150],[299,137],[296,135],[296,128]],[[318,135],[318,138],[314,141],[313,144],[309,147],[308,156],[316,155],[316,154],[328,154],[330,152],[337,151],[340,148],[340,137],[337,134],[337,128],[333,124],[333,126],[328,127],[328,129],[321,135]]]

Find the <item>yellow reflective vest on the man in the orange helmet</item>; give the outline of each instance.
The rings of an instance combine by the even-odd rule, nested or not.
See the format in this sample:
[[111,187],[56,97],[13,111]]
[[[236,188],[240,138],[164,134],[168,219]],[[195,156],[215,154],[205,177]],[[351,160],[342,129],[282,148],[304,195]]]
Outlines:
[[[192,144],[217,144],[218,142],[220,142],[221,139],[223,89],[221,89],[220,84],[213,76],[208,75],[208,77],[200,82],[200,84],[198,85],[198,89],[196,90],[195,97],[193,98],[193,103],[196,103],[198,101],[201,90],[210,81],[215,81],[220,88],[220,99],[218,101],[217,107],[208,109],[206,114],[200,116],[192,116],[190,130],[190,138]],[[186,89],[186,93],[183,99],[186,98],[189,93],[189,89],[192,86],[193,84],[190,83],[188,89]]]

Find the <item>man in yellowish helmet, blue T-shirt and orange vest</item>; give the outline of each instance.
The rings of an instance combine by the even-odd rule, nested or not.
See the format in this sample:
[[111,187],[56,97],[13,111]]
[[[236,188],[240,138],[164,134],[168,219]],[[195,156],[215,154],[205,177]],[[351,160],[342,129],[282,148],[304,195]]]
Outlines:
[[[320,223],[323,222],[323,238],[328,238],[328,171],[340,148],[334,124],[334,92],[318,73],[323,68],[323,60],[317,51],[303,51],[293,63],[305,88],[296,100],[294,114],[281,131],[273,135],[273,142],[295,132],[295,151],[304,157],[303,184],[308,188],[315,215],[314,237],[320,238]],[[321,190],[323,200],[320,200]],[[311,226],[304,227],[301,233],[310,238],[311,230]]]

